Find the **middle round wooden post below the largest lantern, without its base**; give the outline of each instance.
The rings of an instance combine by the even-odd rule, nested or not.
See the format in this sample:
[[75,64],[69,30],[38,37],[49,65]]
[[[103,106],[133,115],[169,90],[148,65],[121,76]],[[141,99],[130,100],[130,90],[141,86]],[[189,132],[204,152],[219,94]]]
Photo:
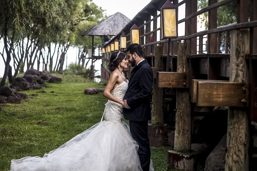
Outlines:
[[[177,72],[189,72],[189,43],[178,43]],[[174,151],[191,150],[191,102],[188,89],[177,89]]]

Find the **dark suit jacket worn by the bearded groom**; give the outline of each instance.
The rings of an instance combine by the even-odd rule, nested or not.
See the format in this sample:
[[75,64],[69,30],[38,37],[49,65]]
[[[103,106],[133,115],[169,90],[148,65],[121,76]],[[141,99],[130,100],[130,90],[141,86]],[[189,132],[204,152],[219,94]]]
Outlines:
[[124,118],[129,121],[151,120],[150,95],[153,73],[151,66],[143,60],[130,73],[128,90],[124,96],[130,109],[123,108]]

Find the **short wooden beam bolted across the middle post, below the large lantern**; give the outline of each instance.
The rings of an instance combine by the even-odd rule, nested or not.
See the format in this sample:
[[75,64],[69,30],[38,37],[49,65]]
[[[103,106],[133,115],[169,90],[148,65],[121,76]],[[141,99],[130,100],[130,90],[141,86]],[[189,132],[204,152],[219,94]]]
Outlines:
[[189,73],[157,72],[158,87],[189,88]]

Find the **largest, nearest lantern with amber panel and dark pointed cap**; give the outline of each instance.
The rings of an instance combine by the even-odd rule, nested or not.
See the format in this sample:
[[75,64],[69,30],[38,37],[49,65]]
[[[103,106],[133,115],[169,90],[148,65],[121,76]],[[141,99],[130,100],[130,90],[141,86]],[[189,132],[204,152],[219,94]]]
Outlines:
[[177,7],[169,0],[160,9],[161,13],[161,38],[178,37]]

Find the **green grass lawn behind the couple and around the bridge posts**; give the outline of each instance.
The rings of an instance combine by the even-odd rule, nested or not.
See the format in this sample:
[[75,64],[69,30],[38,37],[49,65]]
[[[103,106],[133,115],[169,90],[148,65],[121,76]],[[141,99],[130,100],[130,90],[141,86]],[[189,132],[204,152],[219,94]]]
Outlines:
[[[38,94],[34,99],[0,105],[0,170],[9,170],[11,159],[42,157],[101,120],[107,99],[102,94],[84,95],[84,89],[104,88],[103,84],[74,75],[62,78],[61,84],[47,83],[47,88],[23,91]],[[46,93],[36,93],[42,90]],[[48,125],[37,124],[39,121]],[[168,149],[151,147],[156,171],[167,170]]]

